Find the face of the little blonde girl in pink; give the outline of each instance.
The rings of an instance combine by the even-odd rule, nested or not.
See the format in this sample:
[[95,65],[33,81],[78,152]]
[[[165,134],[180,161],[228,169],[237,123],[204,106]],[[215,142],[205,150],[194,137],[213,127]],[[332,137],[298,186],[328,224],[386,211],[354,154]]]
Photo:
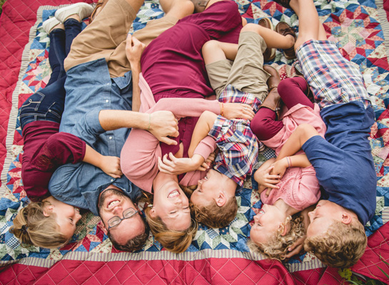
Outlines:
[[277,233],[280,224],[285,220],[286,214],[276,206],[263,204],[262,209],[254,216],[250,239],[256,244],[266,244]]

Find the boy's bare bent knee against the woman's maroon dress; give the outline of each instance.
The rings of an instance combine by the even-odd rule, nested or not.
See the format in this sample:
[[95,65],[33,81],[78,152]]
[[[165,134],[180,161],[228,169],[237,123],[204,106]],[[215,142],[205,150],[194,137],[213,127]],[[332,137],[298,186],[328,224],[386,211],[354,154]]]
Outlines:
[[206,64],[223,61],[224,59],[234,61],[236,53],[238,53],[238,44],[207,41],[203,45],[202,52]]

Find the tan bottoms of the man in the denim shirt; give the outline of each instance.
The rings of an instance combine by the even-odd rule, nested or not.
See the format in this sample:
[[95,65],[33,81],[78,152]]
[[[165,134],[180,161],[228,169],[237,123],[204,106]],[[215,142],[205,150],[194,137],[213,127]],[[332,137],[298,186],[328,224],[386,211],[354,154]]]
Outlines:
[[[126,57],[126,37],[136,13],[125,0],[108,1],[93,23],[74,39],[65,60],[65,70],[105,58],[111,78],[123,76],[131,69]],[[133,36],[148,45],[177,21],[172,16],[149,21],[145,28],[136,31]]]

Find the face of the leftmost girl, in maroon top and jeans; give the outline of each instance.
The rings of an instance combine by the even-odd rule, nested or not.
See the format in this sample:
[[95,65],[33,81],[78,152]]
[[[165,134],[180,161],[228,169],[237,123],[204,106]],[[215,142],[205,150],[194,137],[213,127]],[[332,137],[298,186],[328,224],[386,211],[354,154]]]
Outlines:
[[59,225],[59,231],[64,234],[66,239],[71,239],[76,231],[76,224],[81,219],[80,209],[64,202],[61,202],[54,197],[44,199],[50,202],[44,208],[44,214],[49,216],[51,213],[56,214],[56,223]]

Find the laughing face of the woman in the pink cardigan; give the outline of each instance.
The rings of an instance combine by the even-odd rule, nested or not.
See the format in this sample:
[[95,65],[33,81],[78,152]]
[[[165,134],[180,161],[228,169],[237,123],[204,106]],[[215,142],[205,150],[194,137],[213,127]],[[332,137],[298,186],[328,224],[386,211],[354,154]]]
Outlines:
[[191,226],[188,197],[175,180],[166,180],[154,189],[152,217],[160,217],[168,229],[183,231]]

